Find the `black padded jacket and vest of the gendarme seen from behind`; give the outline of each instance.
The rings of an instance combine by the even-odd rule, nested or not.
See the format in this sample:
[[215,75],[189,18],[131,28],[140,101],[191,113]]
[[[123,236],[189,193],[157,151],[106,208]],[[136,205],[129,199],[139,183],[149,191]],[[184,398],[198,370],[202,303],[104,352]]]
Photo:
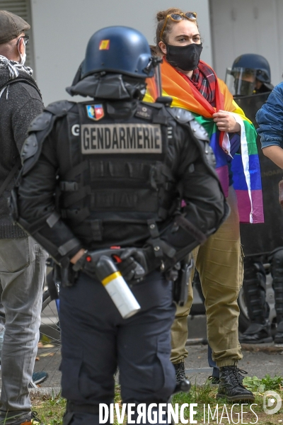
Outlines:
[[[93,101],[88,103],[91,106]],[[207,236],[215,232],[225,216],[224,196],[214,170],[206,164],[200,142],[192,135],[190,124],[187,128],[178,125],[162,105],[158,107],[134,100],[102,101],[101,98],[100,102],[94,103],[101,103],[99,106],[104,113],[97,125],[141,126],[163,122],[162,134],[168,132],[162,150],[165,157],[163,154],[142,154],[142,151],[134,155],[83,154],[81,137],[84,128],[96,125],[95,120],[87,117],[87,105],[81,104],[81,111],[76,103],[54,103],[47,107],[47,112],[40,115],[30,128],[30,137],[23,149],[23,174],[18,188],[18,212],[25,220],[25,224],[20,223],[37,242],[57,261],[60,259],[54,246],[61,255],[67,254],[70,258],[81,246],[87,249],[112,245],[143,246],[152,236],[146,220],[154,219],[159,229],[163,229],[161,239],[164,244],[174,246],[178,251],[185,247],[186,251],[189,245],[192,249],[200,244],[195,234],[183,229],[182,225],[171,232],[172,206],[180,196],[177,188],[181,188],[181,196],[187,204],[185,217],[191,225]],[[147,111],[145,118],[142,118],[143,111]],[[161,117],[156,117],[157,113]],[[40,127],[43,133],[46,132],[44,143],[40,141],[42,132],[37,133]],[[75,131],[80,127],[81,131]],[[35,133],[33,128],[37,130]],[[37,142],[38,147],[33,148]],[[154,181],[156,160],[164,161],[168,169],[166,174],[172,176],[171,183],[166,185],[171,188],[171,198],[163,204],[168,215],[163,219],[156,216],[154,209],[161,196],[156,192],[158,181]],[[28,172],[26,166],[32,169]],[[60,206],[68,208],[57,209],[63,220],[52,214],[54,191],[60,181],[60,187],[66,191],[62,193]],[[164,228],[166,225],[169,225],[168,231]]]

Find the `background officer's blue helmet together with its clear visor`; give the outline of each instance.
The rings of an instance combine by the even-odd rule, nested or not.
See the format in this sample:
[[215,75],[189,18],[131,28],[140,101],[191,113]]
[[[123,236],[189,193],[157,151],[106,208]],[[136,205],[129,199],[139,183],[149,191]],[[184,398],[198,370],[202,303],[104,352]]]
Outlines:
[[270,64],[265,57],[247,53],[236,57],[231,68],[226,70],[226,84],[234,96],[250,96],[257,93],[256,81],[272,90]]

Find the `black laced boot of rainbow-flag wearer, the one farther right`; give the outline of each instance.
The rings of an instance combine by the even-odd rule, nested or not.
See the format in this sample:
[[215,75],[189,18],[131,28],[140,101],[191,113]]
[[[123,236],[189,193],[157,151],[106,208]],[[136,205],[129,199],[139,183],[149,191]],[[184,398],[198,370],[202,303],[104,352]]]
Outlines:
[[243,386],[243,376],[240,372],[246,373],[244,370],[240,370],[237,366],[224,366],[219,368],[220,371],[220,384],[216,399],[226,398],[229,402],[241,402],[248,401],[253,402],[255,396],[253,392],[250,392]]

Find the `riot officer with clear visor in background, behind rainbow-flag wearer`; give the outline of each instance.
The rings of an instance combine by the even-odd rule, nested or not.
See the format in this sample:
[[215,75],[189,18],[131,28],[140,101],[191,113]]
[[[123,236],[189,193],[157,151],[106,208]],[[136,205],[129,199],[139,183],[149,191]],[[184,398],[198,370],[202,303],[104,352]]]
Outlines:
[[[229,80],[229,74],[233,79]],[[250,120],[255,122],[255,113],[264,104],[273,89],[271,84],[270,64],[265,57],[255,54],[241,55],[233,62],[226,79],[233,82],[234,98]],[[265,224],[241,225],[241,242],[245,253],[243,291],[250,326],[240,342],[260,344],[272,342],[270,322],[268,320],[270,307],[265,300],[266,276],[264,262],[270,262],[272,285],[275,290],[275,310],[277,312],[277,333],[275,342],[283,342],[283,220],[282,211],[277,202],[277,167],[260,152],[260,167],[262,174],[262,194],[265,207]],[[271,179],[275,179],[272,184]],[[275,190],[272,191],[272,187]],[[282,217],[280,219],[280,217]],[[280,226],[280,229],[278,228]],[[281,229],[282,228],[282,229]],[[282,324],[280,325],[280,322]]]

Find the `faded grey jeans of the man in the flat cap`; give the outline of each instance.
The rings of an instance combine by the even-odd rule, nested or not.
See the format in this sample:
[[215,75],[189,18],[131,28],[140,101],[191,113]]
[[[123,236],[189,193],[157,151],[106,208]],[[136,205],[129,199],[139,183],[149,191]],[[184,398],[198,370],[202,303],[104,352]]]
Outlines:
[[5,314],[0,424],[30,412],[28,384],[39,339],[47,253],[32,237],[0,239],[0,295]]

